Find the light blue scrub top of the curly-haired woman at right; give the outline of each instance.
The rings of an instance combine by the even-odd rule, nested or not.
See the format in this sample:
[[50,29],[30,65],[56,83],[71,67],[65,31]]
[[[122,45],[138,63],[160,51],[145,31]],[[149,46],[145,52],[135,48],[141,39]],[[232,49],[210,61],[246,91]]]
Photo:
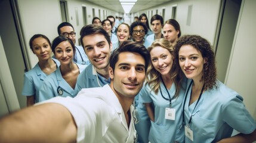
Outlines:
[[[219,80],[217,85],[217,89],[203,92],[195,111],[193,109],[197,101],[189,105],[191,87],[189,89],[184,116],[187,125],[192,115],[190,129],[194,142],[218,142],[229,138],[233,129],[245,134],[256,129],[256,122],[246,110],[243,98]],[[192,141],[186,137],[186,142]]]

